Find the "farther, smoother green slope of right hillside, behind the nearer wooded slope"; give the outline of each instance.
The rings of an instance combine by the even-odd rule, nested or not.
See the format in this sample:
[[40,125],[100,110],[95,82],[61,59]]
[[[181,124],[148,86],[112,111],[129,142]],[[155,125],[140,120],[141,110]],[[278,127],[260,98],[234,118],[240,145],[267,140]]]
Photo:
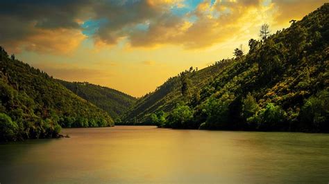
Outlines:
[[122,116],[122,123],[134,124],[149,122],[149,115],[156,111],[170,111],[178,102],[183,100],[182,76],[186,76],[189,83],[189,94],[199,93],[199,90],[208,84],[219,71],[230,64],[230,59],[217,62],[216,64],[196,70],[190,68],[175,77],[170,77],[164,84],[152,93],[144,95],[137,103]]

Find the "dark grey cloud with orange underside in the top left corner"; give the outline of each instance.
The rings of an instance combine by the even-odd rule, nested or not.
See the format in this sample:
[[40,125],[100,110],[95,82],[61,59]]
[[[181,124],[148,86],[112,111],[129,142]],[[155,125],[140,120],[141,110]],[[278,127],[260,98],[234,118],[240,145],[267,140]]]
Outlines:
[[[0,1],[0,43],[12,52],[64,50],[56,44],[69,44],[71,49],[72,36],[82,39],[78,19],[87,15],[89,6],[89,1]],[[50,36],[60,39],[40,40]]]

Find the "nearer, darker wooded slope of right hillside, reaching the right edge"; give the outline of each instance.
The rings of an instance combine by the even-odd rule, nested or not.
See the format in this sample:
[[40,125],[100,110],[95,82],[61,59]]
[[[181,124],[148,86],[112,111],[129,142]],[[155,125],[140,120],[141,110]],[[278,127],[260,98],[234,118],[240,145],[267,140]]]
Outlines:
[[[329,3],[260,41],[222,71],[193,128],[329,131]],[[170,122],[167,122],[170,126]]]

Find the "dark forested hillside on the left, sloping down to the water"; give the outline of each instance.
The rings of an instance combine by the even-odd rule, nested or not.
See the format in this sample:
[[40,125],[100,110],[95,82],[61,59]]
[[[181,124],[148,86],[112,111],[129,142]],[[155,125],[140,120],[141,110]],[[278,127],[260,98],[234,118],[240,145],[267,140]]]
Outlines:
[[58,137],[61,127],[108,127],[108,113],[0,47],[0,141]]

